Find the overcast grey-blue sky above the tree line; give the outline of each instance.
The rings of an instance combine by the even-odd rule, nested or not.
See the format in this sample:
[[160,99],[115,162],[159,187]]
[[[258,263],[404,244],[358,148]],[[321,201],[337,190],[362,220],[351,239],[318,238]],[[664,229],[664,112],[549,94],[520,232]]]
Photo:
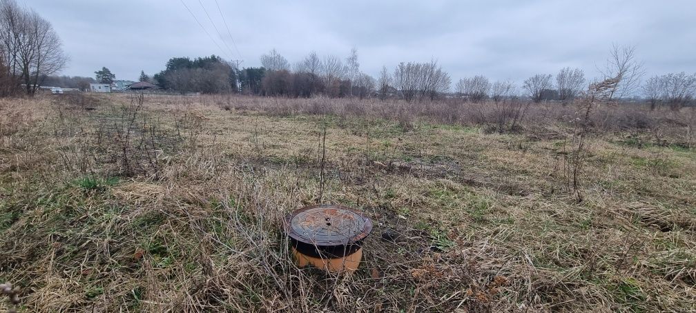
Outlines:
[[259,66],[274,48],[290,63],[312,50],[345,58],[356,47],[373,76],[382,65],[434,58],[452,81],[521,81],[564,66],[594,77],[612,43],[635,45],[648,75],[696,72],[694,0],[22,2],[52,22],[70,56],[62,74],[71,76],[106,66],[117,79],[137,79],[173,56],[210,54]]

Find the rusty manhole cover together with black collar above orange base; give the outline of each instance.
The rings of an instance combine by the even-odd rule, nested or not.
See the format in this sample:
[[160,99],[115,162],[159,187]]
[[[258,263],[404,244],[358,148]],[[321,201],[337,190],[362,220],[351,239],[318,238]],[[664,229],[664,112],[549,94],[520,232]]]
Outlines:
[[338,258],[361,247],[372,232],[372,220],[340,204],[316,204],[287,214],[285,232],[303,255]]

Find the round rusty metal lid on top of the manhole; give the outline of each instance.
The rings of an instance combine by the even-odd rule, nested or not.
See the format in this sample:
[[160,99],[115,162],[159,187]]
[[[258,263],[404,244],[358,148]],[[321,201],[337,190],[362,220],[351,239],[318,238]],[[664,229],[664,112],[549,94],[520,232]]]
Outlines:
[[285,218],[285,230],[296,241],[317,246],[345,246],[365,239],[372,220],[338,204],[303,207]]

